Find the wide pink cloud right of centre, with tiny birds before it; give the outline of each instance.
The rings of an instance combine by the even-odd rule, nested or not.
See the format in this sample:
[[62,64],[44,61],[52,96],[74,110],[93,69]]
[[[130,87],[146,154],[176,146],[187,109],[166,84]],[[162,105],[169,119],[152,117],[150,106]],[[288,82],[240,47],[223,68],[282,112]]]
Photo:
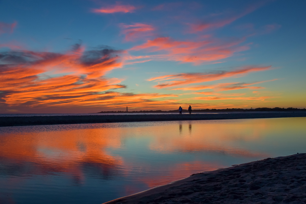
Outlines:
[[230,39],[229,42],[218,39],[203,41],[175,41],[170,37],[160,37],[147,40],[146,43],[134,46],[130,51],[145,50],[147,52],[159,52],[151,58],[157,60],[171,60],[192,62],[199,65],[203,62],[216,61],[233,56],[235,52],[249,49],[248,46],[239,46],[243,39]]

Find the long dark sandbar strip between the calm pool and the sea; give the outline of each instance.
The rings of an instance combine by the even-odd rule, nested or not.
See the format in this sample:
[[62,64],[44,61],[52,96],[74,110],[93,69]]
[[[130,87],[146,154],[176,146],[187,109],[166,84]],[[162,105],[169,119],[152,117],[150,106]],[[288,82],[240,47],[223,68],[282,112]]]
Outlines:
[[226,120],[253,118],[306,117],[306,112],[290,113],[218,113],[218,114],[144,114],[86,116],[0,117],[0,127],[25,125],[86,124],[148,121]]

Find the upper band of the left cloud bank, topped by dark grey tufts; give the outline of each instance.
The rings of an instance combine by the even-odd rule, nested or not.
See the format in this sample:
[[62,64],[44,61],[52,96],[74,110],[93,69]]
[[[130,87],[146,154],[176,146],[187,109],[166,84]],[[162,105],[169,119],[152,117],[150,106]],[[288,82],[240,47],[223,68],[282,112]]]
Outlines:
[[122,66],[122,51],[108,48],[84,51],[79,44],[66,54],[32,52],[28,50],[1,54],[2,71],[12,69],[52,69],[54,73],[74,72],[90,76],[102,76],[106,71]]

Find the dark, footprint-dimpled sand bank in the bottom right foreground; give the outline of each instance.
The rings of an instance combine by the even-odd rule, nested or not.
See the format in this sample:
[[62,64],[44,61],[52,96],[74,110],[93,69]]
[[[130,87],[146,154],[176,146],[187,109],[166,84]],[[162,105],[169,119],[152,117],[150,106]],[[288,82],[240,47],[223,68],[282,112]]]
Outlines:
[[106,203],[306,203],[306,154],[202,172]]

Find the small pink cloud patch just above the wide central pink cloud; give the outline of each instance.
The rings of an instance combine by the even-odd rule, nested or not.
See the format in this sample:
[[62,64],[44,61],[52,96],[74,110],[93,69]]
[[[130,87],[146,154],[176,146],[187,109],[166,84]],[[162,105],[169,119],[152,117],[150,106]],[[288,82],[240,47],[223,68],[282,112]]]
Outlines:
[[121,27],[124,29],[122,33],[125,34],[126,41],[133,41],[144,36],[152,35],[152,31],[155,30],[153,26],[142,23],[134,23],[132,25],[121,24]]

